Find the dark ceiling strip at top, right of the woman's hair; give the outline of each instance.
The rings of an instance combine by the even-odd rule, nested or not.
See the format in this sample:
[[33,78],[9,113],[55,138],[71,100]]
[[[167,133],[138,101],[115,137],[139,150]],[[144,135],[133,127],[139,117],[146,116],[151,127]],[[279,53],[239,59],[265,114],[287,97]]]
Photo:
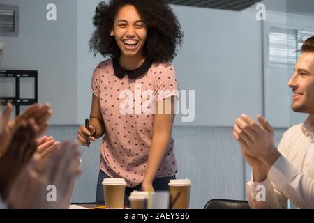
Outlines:
[[180,6],[240,11],[253,6],[258,1],[260,0],[167,0],[167,3]]

